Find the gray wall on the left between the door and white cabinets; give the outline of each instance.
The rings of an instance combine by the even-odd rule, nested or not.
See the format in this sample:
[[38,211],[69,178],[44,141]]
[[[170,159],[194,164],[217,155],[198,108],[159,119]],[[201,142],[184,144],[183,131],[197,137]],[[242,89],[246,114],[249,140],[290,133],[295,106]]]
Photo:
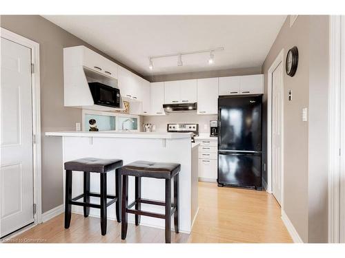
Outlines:
[[[44,133],[74,130],[75,122],[81,122],[81,109],[63,107],[63,47],[86,45],[99,54],[106,55],[43,17],[1,15],[0,19],[2,28],[36,41],[40,47],[42,211],[44,213],[63,204],[61,138],[48,138]],[[106,57],[115,61],[110,56]]]

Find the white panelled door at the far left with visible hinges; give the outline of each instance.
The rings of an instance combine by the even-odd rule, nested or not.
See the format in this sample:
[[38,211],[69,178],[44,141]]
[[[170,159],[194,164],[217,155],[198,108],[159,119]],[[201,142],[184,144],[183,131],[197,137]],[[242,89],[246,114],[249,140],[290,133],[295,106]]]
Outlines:
[[1,38],[1,231],[34,222],[31,51]]

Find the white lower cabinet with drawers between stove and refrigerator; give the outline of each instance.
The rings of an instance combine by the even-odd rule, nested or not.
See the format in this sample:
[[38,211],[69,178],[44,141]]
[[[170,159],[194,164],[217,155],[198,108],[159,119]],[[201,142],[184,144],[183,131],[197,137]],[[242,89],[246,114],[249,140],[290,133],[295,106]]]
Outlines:
[[217,182],[218,156],[217,138],[196,140],[199,145],[199,181]]

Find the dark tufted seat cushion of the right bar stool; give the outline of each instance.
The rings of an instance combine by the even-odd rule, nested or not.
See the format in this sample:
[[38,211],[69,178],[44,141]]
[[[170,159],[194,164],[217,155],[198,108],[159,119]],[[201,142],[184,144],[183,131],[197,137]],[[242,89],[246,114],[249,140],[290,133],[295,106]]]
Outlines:
[[120,168],[121,175],[162,179],[173,178],[180,170],[181,164],[142,160],[132,162]]

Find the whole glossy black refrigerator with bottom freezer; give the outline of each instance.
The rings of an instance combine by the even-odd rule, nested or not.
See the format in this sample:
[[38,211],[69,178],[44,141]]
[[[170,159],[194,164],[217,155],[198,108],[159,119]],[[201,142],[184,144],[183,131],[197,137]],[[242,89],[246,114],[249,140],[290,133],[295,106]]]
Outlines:
[[218,98],[218,185],[262,189],[262,95]]

